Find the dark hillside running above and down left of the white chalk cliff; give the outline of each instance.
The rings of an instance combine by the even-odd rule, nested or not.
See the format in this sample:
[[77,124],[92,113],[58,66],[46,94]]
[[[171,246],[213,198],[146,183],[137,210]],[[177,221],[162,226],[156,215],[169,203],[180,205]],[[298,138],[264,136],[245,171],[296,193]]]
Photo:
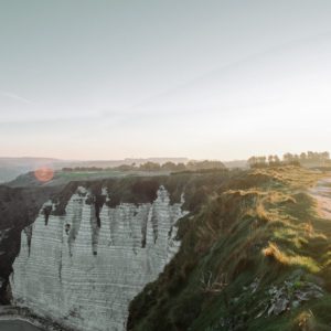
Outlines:
[[[131,174],[131,175],[130,175]],[[143,175],[145,174],[145,175]],[[206,192],[228,180],[227,171],[207,173],[179,173],[160,175],[160,173],[118,173],[107,172],[99,178],[90,173],[56,173],[55,179],[46,184],[38,183],[32,173],[18,178],[11,186],[0,185],[0,303],[8,302],[8,279],[12,264],[20,249],[21,231],[33,223],[43,204],[52,199],[56,209],[52,214],[63,216],[71,196],[79,185],[90,190],[96,196],[98,209],[105,203],[102,189],[107,188],[111,201],[107,204],[116,207],[121,203],[149,203],[156,199],[162,184],[171,194],[172,202],[179,202],[181,194],[188,196],[185,209],[194,210],[207,196]],[[21,188],[20,188],[21,186]]]

